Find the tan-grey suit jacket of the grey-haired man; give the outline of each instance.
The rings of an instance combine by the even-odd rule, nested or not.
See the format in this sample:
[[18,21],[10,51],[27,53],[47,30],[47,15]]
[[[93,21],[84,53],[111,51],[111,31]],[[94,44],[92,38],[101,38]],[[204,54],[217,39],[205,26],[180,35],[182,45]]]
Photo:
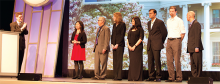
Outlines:
[[[99,28],[97,29],[98,33]],[[97,36],[96,33],[96,36]],[[102,53],[102,50],[105,49],[107,52],[110,52],[110,29],[107,26],[103,26],[98,34],[98,44],[95,44],[93,52]]]

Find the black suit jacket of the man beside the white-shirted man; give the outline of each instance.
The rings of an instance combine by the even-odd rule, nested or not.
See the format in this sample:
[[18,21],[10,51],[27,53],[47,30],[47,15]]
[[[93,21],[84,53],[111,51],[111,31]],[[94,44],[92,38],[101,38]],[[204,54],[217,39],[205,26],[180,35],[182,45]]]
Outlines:
[[164,48],[163,43],[167,37],[167,28],[164,22],[160,19],[154,21],[154,24],[151,28],[151,21],[148,21],[148,43],[147,43],[147,50],[150,50],[150,47],[153,50],[161,50]]

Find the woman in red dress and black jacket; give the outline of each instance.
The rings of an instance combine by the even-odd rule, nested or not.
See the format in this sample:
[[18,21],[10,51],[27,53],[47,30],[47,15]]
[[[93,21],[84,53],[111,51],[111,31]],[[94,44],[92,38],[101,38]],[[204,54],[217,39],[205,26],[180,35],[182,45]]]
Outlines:
[[[82,79],[82,71],[84,69],[83,61],[85,57],[85,44],[87,42],[86,33],[84,32],[84,25],[82,21],[77,21],[75,25],[75,31],[72,34],[71,43],[73,43],[73,50],[71,60],[74,60],[75,73],[73,79]],[[80,71],[79,71],[80,66]]]

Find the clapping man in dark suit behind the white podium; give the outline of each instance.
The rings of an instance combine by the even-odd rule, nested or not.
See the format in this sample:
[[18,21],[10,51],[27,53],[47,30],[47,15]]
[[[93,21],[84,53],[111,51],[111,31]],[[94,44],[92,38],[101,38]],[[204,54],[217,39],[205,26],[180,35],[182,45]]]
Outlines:
[[28,34],[27,23],[22,22],[23,16],[21,12],[15,13],[16,22],[10,24],[12,32],[20,32],[19,34],[19,68],[18,73],[21,71],[21,65],[24,58],[25,38],[24,35]]

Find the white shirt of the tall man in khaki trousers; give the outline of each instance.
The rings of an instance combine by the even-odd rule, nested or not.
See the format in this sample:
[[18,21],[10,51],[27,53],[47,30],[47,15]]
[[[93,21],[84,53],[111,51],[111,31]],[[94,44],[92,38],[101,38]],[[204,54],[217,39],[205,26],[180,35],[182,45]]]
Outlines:
[[177,16],[167,20],[168,38],[180,38],[186,33],[183,20]]

